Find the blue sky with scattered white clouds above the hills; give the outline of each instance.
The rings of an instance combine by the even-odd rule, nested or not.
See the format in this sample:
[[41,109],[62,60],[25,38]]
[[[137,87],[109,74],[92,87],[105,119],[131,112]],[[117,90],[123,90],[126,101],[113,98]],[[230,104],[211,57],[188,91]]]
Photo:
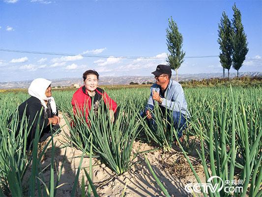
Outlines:
[[[166,62],[171,16],[186,52],[178,72],[222,72],[218,57],[190,57],[219,55],[218,23],[223,11],[233,18],[234,2],[249,43],[239,71],[262,71],[261,0],[0,0],[1,49],[76,55],[0,51],[0,81],[81,77],[87,69],[101,76],[150,75]],[[125,56],[137,58],[119,58]]]

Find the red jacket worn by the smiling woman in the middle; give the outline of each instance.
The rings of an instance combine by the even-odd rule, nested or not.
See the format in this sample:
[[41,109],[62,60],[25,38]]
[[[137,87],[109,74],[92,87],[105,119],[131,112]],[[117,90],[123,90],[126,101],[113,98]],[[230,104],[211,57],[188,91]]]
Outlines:
[[[86,111],[86,121],[87,121],[88,113],[91,109],[92,100],[90,99],[87,91],[84,93],[85,89],[83,89],[83,87],[84,86],[80,87],[74,93],[71,104],[73,106],[73,111],[75,115],[77,115],[77,109],[79,110],[79,112],[80,111],[82,112],[83,116],[84,116],[84,110]],[[102,99],[104,100],[107,107],[110,110],[113,110],[114,113],[116,113],[116,107],[117,107],[116,102],[113,99],[111,99],[103,89],[96,88],[95,91],[102,96]],[[86,109],[84,109],[85,107]]]

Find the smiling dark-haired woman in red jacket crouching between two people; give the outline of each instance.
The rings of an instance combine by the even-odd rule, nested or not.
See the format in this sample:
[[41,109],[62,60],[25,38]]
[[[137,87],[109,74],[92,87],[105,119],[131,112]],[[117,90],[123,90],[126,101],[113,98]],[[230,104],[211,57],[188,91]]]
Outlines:
[[98,78],[99,74],[95,70],[87,70],[83,73],[84,86],[80,87],[74,93],[71,102],[74,114],[77,115],[79,112],[81,112],[83,116],[85,114],[87,121],[91,107],[93,107],[94,113],[98,113],[98,107],[103,101],[109,109],[111,122],[114,122],[117,115],[117,104],[104,90],[97,87]]

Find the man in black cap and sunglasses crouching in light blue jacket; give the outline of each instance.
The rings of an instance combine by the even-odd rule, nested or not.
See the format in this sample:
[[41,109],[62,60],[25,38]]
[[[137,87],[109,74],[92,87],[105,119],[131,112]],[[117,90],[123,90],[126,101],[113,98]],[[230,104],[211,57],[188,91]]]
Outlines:
[[[150,97],[145,111],[141,115],[142,117],[146,116],[148,120],[152,119],[153,114],[151,111],[154,109],[154,105],[158,104],[163,115],[166,110],[168,114],[173,114],[174,128],[182,141],[182,131],[186,128],[186,119],[190,117],[182,86],[171,80],[172,71],[170,66],[158,65],[152,74],[155,75],[156,82],[151,86]],[[155,124],[154,121],[148,122]]]

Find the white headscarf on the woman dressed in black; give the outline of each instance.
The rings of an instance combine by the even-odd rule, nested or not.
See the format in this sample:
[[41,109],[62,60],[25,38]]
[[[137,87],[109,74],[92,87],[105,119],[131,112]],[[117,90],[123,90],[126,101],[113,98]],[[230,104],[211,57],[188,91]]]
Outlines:
[[45,94],[46,89],[48,88],[48,86],[50,86],[51,83],[52,81],[42,79],[42,78],[34,79],[29,86],[28,93],[32,97],[39,99],[41,101],[41,104],[44,106],[45,110],[47,109],[45,100],[49,100],[51,108],[52,108],[52,112],[53,114],[56,114],[57,105],[56,105],[55,99],[53,97],[46,97],[46,94]]

